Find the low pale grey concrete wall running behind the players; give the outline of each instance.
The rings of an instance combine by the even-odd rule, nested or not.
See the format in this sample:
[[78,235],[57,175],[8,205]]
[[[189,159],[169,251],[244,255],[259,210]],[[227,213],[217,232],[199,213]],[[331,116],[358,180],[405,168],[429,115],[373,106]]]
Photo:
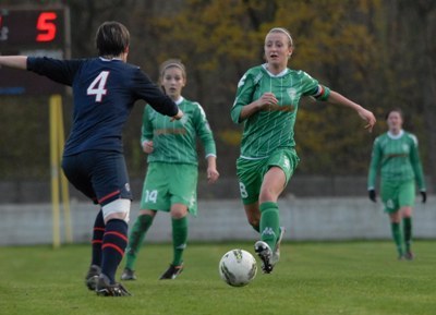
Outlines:
[[[416,202],[413,233],[420,239],[436,238],[436,196],[427,204]],[[198,217],[190,217],[190,241],[233,241],[258,238],[245,219],[238,199],[199,201]],[[382,205],[366,197],[284,197],[279,202],[286,240],[334,241],[390,239],[387,215]],[[131,225],[138,204],[133,203]],[[88,242],[98,207],[72,202],[71,215],[74,242]],[[0,204],[0,245],[50,244],[52,220],[50,204]],[[61,234],[63,235],[63,228]],[[159,214],[149,230],[147,242],[170,242],[168,214]]]

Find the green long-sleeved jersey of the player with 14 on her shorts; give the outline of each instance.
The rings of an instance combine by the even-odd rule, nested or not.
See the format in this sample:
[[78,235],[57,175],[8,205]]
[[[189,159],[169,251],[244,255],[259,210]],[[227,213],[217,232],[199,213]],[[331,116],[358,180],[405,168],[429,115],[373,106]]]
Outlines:
[[154,145],[147,161],[198,165],[197,136],[204,145],[206,157],[216,156],[214,135],[202,106],[183,97],[175,104],[184,114],[181,120],[172,122],[150,106],[145,107],[141,143],[153,141]]

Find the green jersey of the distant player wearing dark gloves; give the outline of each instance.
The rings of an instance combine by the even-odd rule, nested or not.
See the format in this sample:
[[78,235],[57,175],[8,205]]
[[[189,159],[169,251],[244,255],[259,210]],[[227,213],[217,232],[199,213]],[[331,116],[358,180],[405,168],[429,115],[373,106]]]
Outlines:
[[415,179],[421,191],[425,181],[417,150],[416,137],[401,131],[398,135],[387,132],[374,141],[368,173],[368,190],[375,187],[377,171],[382,181],[404,182]]

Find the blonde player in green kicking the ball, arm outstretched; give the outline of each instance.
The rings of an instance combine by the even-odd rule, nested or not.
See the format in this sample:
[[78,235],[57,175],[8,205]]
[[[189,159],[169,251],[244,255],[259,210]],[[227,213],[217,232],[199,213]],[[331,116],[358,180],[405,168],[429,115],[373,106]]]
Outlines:
[[250,69],[240,80],[231,117],[244,123],[237,161],[240,192],[247,220],[261,233],[254,250],[264,272],[279,259],[284,229],[279,225],[277,199],[296,168],[293,128],[303,96],[349,107],[372,131],[374,114],[344,96],[320,85],[303,71],[288,68],[293,51],[290,33],[272,28],[265,38],[266,63]]

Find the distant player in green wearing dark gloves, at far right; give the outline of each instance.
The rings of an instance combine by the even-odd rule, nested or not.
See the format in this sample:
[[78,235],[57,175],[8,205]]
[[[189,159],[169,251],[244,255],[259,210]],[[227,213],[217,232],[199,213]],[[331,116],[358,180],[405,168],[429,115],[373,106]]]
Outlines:
[[[427,199],[425,180],[417,150],[417,140],[402,129],[402,111],[390,110],[386,114],[386,122],[388,132],[374,141],[368,172],[368,195],[375,203],[375,182],[380,169],[380,196],[385,211],[389,215],[398,257],[411,261],[414,257],[411,241],[415,182],[420,187],[422,202],[425,203]],[[401,231],[401,220],[403,231]]]

